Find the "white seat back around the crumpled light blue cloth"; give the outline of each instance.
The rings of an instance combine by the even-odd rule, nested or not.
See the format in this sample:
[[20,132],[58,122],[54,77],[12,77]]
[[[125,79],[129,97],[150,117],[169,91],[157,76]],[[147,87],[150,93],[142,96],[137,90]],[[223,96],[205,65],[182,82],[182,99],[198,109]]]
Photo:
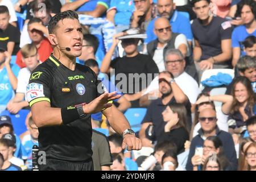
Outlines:
[[232,78],[234,78],[234,69],[207,69],[203,72],[201,80],[200,80],[200,86],[199,88],[201,90],[204,89],[204,86],[201,84],[202,81],[205,79],[209,78],[212,75],[217,75],[219,72],[221,73],[227,73],[229,74]]

